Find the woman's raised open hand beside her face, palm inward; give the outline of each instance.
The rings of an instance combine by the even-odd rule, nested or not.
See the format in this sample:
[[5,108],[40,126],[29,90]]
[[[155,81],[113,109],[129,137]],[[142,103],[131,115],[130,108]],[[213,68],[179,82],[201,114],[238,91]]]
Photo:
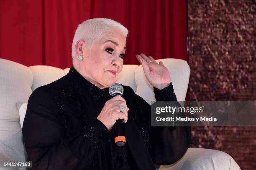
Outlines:
[[137,60],[141,63],[148,82],[158,89],[163,89],[171,83],[169,71],[164,67],[163,62],[159,64],[153,57],[147,57],[145,54],[136,55]]

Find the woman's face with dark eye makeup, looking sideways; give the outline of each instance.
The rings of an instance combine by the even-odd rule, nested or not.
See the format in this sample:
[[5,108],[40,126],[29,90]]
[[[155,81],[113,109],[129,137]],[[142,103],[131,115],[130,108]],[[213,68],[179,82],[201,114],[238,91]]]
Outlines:
[[81,60],[85,77],[99,88],[115,83],[123,69],[125,43],[125,36],[118,29],[113,29],[97,40],[91,49],[85,47],[84,59]]

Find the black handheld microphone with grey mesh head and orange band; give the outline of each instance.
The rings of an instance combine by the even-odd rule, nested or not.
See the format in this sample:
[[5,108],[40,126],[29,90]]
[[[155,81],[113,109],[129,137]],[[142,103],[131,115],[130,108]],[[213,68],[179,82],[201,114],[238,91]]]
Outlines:
[[[115,97],[116,95],[122,96],[123,86],[120,85],[119,83],[114,83],[109,87],[109,94],[112,97]],[[124,146],[126,141],[125,141],[125,128],[124,128],[123,119],[118,119],[115,122],[114,131],[115,131],[115,144],[117,146]]]

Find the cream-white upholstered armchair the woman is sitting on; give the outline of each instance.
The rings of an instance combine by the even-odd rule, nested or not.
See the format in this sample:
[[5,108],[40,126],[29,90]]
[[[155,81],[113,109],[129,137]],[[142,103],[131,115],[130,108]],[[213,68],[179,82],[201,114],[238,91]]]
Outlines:
[[[189,82],[189,65],[186,61],[179,59],[161,59],[161,61],[170,71],[177,100],[184,100]],[[25,161],[26,152],[22,141],[18,110],[23,103],[28,102],[33,90],[59,79],[68,72],[69,68],[62,70],[43,65],[26,67],[16,62],[0,59],[0,161],[5,160],[6,155],[15,161]],[[129,85],[148,103],[155,100],[153,87],[148,84],[141,66],[124,65],[118,82]],[[223,160],[222,163],[218,162],[219,158]],[[220,151],[190,148],[182,160],[167,169],[178,170],[185,167],[182,170],[224,170],[223,167],[234,165],[232,170],[239,170],[236,162],[232,160],[228,154]],[[186,169],[189,164],[192,168]],[[214,169],[212,169],[213,165]],[[205,169],[206,167],[208,169]],[[166,167],[162,166],[160,169],[163,168]]]

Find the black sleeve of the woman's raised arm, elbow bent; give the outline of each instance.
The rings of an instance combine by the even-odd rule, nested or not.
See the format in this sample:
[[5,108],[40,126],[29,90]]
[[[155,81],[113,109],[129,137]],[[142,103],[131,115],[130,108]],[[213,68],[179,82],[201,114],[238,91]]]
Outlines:
[[[162,90],[154,87],[157,101],[177,101],[172,83]],[[180,107],[179,102],[175,105]],[[169,165],[177,162],[189,148],[190,126],[151,126],[150,153],[155,164]]]

